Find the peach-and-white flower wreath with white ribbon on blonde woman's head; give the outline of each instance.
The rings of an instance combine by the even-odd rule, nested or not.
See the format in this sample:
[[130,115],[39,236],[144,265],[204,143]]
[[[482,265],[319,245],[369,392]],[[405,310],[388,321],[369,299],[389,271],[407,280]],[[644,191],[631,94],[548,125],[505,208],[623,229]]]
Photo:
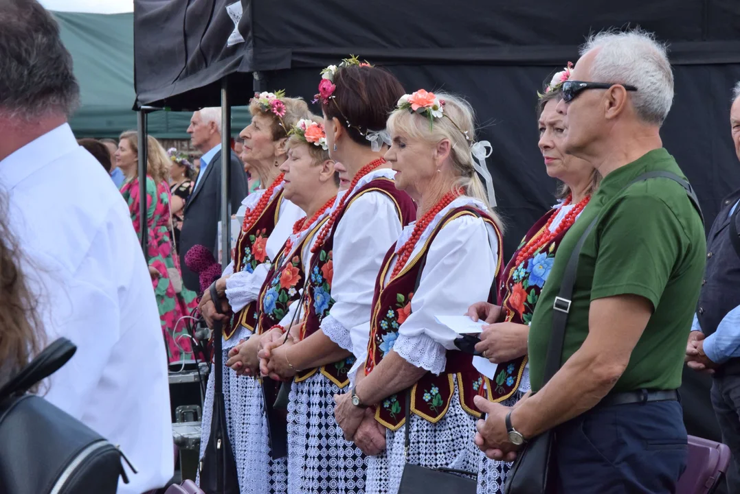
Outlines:
[[429,120],[429,129],[434,126],[434,120],[446,118],[449,120],[470,143],[470,152],[473,156],[473,168],[485,182],[485,192],[488,195],[488,205],[496,206],[496,194],[494,193],[494,180],[491,178],[491,172],[485,165],[485,159],[491,156],[494,151],[493,146],[487,140],[474,142],[468,131],[463,131],[457,123],[445,114],[445,100],[440,100],[433,92],[427,92],[419,89],[411,95],[403,95],[396,105],[399,110],[408,110],[410,113],[420,114]]

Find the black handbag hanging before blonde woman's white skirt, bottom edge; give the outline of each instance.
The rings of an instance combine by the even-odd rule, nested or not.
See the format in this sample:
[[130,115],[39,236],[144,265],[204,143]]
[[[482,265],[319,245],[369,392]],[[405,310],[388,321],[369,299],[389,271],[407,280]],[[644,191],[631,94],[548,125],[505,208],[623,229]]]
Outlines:
[[[411,390],[406,392],[406,425],[404,456],[401,484],[398,494],[475,494],[478,486],[478,474],[454,468],[428,468],[408,463],[409,426],[411,425]],[[468,478],[471,477],[471,478]]]

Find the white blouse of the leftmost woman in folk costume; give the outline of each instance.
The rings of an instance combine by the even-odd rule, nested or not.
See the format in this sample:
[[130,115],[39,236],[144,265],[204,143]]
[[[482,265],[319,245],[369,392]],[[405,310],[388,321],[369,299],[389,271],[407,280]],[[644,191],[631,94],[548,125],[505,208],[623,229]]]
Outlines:
[[[275,197],[282,188],[282,184],[277,185],[277,187],[272,191],[272,196]],[[254,193],[249,194],[249,196],[246,196],[246,198],[241,202],[242,207],[239,208],[239,211],[243,214],[243,211],[245,211],[246,208],[255,207],[263,193],[265,193],[265,189],[255,191]],[[297,207],[287,199],[283,199],[283,202],[280,203],[280,212],[277,213],[277,224],[275,224],[275,229],[272,230],[272,234],[268,237],[265,247],[270,259],[277,257],[277,253],[280,252],[280,247],[283,247],[286,239],[288,239],[288,236],[293,232],[293,224],[303,216],[306,216],[306,214],[303,213],[303,210],[301,210],[300,207]],[[226,267],[223,274],[231,274],[229,278],[226,279],[226,298],[229,300],[232,312],[239,312],[248,303],[257,300],[257,297],[260,294],[260,288],[262,288],[262,285],[267,278],[267,272],[269,271],[270,266],[271,264],[269,263],[263,263],[258,267],[255,267],[253,272],[233,272],[234,261],[232,261],[231,264]],[[239,343],[239,340],[249,337],[249,335],[252,335],[252,332],[250,332],[249,329],[239,329],[238,334],[233,335],[228,341],[223,341],[223,349],[232,348]]]

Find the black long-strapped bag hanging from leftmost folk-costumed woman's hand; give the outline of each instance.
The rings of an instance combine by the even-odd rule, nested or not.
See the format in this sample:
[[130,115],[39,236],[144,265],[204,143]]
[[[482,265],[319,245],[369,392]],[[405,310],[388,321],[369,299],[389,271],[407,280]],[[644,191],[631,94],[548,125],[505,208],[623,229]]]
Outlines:
[[[216,312],[221,314],[215,282],[209,288]],[[239,494],[239,477],[234,451],[226,430],[226,404],[223,401],[223,342],[221,321],[213,323],[213,414],[211,433],[200,462],[201,489],[208,494]]]

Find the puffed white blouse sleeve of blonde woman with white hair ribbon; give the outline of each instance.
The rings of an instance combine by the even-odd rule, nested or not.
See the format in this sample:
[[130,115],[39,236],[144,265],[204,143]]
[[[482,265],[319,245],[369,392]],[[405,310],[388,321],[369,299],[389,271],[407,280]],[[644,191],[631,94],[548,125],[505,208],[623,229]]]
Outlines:
[[499,248],[493,227],[480,217],[460,216],[446,224],[429,246],[411,315],[400,325],[393,351],[441,374],[446,351],[457,350],[457,334],[434,318],[463,315],[471,303],[487,300]]

